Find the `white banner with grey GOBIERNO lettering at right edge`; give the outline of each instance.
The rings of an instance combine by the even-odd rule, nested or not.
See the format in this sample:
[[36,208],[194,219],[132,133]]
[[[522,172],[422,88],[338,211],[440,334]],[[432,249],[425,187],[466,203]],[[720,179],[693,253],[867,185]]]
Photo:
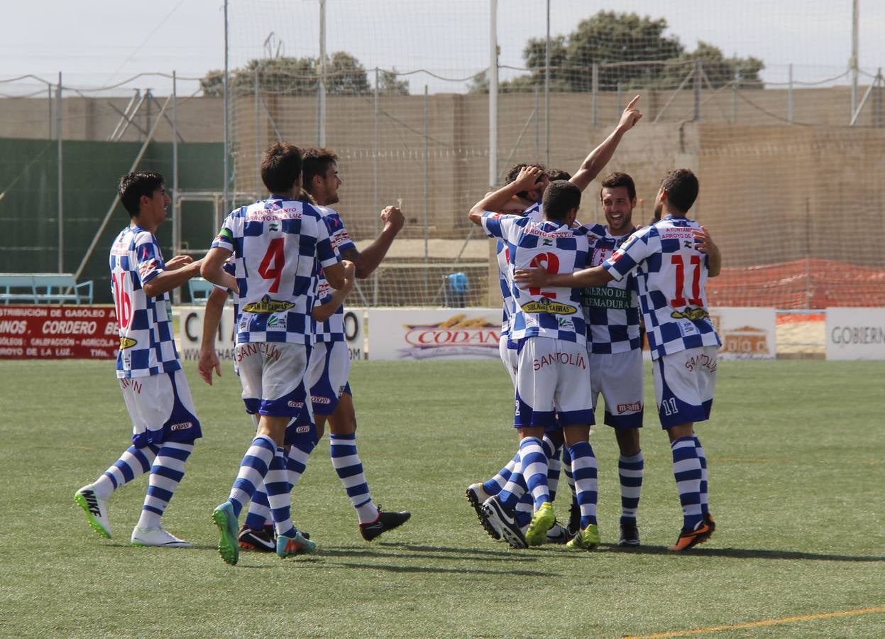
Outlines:
[[885,308],[828,308],[827,359],[885,359]]

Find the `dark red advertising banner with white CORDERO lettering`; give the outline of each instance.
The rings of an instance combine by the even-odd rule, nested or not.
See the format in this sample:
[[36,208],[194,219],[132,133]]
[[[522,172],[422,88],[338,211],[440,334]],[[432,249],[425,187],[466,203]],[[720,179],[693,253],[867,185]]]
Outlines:
[[0,306],[0,359],[112,359],[111,306]]

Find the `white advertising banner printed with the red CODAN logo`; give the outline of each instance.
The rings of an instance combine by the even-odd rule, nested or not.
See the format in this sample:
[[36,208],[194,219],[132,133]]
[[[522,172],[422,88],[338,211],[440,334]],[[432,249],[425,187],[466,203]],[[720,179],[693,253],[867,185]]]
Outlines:
[[497,359],[500,308],[369,309],[372,359]]

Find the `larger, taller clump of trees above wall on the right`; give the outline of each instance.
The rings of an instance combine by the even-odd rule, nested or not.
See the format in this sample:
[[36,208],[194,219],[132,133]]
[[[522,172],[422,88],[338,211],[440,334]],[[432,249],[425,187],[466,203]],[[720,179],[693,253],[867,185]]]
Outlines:
[[[765,65],[758,58],[725,58],[712,44],[698,42],[687,52],[676,36],[665,35],[666,19],[640,17],[636,13],[598,12],[582,19],[569,35],[550,39],[550,89],[590,91],[593,65],[597,65],[599,89],[675,88],[696,59],[714,88],[740,77],[743,88],[761,88],[758,73]],[[501,82],[504,92],[531,91],[544,85],[545,41],[533,38],[522,57],[528,73]],[[488,77],[474,77],[471,93],[488,93]]]

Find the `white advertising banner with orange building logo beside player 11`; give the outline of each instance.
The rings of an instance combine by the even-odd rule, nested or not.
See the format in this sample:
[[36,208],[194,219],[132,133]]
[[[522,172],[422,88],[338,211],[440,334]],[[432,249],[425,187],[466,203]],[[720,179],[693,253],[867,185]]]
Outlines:
[[716,306],[710,319],[722,340],[720,359],[773,359],[777,313],[773,308]]

